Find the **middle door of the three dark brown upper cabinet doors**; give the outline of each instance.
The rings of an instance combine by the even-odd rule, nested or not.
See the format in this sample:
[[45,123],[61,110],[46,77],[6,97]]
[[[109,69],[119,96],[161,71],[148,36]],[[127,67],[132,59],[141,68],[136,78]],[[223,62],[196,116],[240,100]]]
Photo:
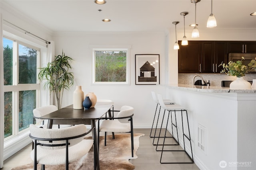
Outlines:
[[202,72],[214,72],[214,41],[201,41]]

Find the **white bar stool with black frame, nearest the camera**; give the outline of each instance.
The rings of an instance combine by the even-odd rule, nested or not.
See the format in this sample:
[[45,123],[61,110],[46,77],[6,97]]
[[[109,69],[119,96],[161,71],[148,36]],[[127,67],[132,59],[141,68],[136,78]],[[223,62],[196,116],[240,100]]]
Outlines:
[[[177,121],[176,121],[176,111],[181,111],[181,120],[182,120],[182,133],[183,133],[183,143],[184,143],[184,150],[164,150],[164,143],[165,143],[165,139],[166,139],[166,131],[167,131],[167,128],[165,130],[165,134],[164,134],[164,142],[163,142],[163,145],[162,145],[162,152],[161,152],[161,158],[160,158],[160,163],[161,164],[176,164],[176,163],[179,163],[179,164],[184,164],[184,163],[194,163],[194,158],[193,158],[193,151],[192,151],[192,144],[191,144],[191,137],[190,137],[190,129],[189,129],[189,123],[188,123],[188,136],[184,133],[184,127],[183,127],[183,114],[182,114],[182,111],[185,111],[186,112],[186,117],[187,117],[187,122],[188,122],[188,112],[187,110],[182,107],[181,105],[179,104],[173,104],[173,105],[166,105],[164,104],[164,101],[162,99],[162,96],[160,94],[157,95],[158,96],[158,101],[159,101],[159,104],[162,108],[164,108],[164,112],[167,110],[168,111],[168,118],[167,118],[167,123],[166,123],[166,127],[168,126],[168,121],[169,121],[169,116],[170,116],[170,113],[171,113],[171,123],[172,123],[172,134],[173,134],[173,127],[176,128],[176,132],[177,132],[177,138],[178,138],[178,129],[177,129]],[[174,111],[174,115],[175,115],[175,124],[172,122],[172,111]],[[164,120],[164,119],[163,119]],[[160,134],[159,134],[160,136]],[[186,147],[185,147],[185,137],[186,139],[188,139],[188,141],[190,142],[190,149],[191,149],[191,156],[188,154],[188,152],[186,151]],[[174,138],[175,139],[175,138]],[[159,138],[158,138],[159,140]],[[176,139],[175,139],[176,140]],[[179,140],[179,138],[178,138]],[[179,141],[176,140],[179,144]],[[163,152],[164,151],[172,151],[172,152],[180,152],[180,151],[184,151],[186,152],[186,154],[188,155],[188,157],[190,158],[190,160],[192,162],[162,162],[162,155],[163,155]]]

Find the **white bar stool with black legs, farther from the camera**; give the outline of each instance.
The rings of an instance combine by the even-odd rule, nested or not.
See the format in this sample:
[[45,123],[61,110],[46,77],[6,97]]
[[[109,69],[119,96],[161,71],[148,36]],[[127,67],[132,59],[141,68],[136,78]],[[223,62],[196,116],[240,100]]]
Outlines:
[[[157,99],[157,97],[156,97],[156,93],[152,91],[151,94],[152,94],[153,101],[156,103],[156,111],[155,111],[155,115],[154,115],[154,119],[153,119],[151,131],[150,131],[150,137],[151,137],[151,138],[154,138],[154,139],[153,139],[153,145],[156,145],[156,144],[154,144],[154,140],[155,140],[155,138],[156,138],[156,129],[157,129],[158,120],[159,120],[159,116],[160,116],[161,106],[160,106],[160,104],[159,104],[159,102],[158,102],[158,99]],[[168,100],[168,99],[165,99],[165,100],[163,100],[163,101],[164,101],[164,104],[174,104],[174,102],[172,102],[171,100]],[[154,136],[152,136],[152,130],[153,130],[153,127],[154,127],[154,121],[155,121],[155,119],[156,119],[156,112],[157,112],[158,105],[159,105],[160,107],[159,107],[158,117],[157,117],[157,121],[156,121],[156,128],[155,128]],[[163,115],[163,117],[164,117],[164,115]],[[160,132],[161,132],[161,130],[162,130],[162,125],[161,125],[161,128],[160,128]],[[159,136],[159,137],[160,137],[160,136]]]

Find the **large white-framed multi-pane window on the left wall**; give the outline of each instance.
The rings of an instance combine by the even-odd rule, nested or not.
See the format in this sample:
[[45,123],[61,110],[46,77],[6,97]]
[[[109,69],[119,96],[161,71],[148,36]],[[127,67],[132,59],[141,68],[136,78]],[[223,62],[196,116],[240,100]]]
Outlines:
[[39,49],[15,39],[3,38],[4,140],[28,131],[34,124],[38,90]]

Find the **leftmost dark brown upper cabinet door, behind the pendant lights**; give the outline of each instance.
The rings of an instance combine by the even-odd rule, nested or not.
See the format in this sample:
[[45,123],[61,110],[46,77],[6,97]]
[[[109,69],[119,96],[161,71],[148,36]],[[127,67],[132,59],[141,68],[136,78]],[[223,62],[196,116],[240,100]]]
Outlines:
[[181,45],[178,50],[178,72],[200,72],[201,42],[188,41],[188,45]]

